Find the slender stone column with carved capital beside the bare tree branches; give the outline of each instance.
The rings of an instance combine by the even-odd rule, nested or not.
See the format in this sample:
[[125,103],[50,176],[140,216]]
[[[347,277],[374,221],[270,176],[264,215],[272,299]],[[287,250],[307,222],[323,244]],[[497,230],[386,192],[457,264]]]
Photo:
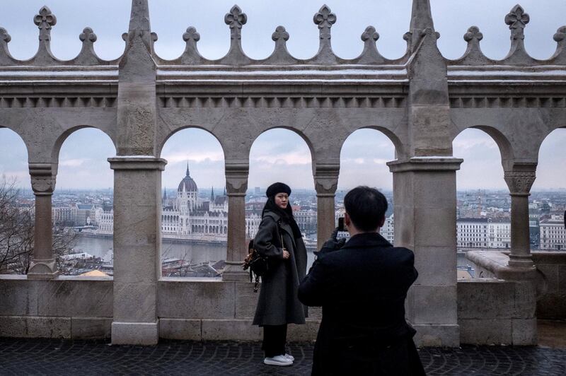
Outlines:
[[53,254],[51,197],[57,168],[51,163],[30,163],[31,187],[35,194],[35,231],[33,259],[28,278],[55,278],[59,275]]

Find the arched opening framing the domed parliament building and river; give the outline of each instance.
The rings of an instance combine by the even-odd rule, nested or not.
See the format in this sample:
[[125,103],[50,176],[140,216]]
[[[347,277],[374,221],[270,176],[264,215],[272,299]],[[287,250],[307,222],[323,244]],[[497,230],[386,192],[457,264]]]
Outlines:
[[202,129],[183,129],[163,146],[167,160],[161,179],[163,213],[171,230],[161,236],[161,275],[164,277],[221,276],[226,260],[226,234],[214,233],[209,216],[228,220],[224,189],[224,151]]

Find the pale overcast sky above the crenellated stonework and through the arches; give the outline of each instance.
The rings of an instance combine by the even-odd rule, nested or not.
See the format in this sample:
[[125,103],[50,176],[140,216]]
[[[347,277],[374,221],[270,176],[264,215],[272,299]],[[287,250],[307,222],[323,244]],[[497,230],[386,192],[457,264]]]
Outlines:
[[[37,26],[33,16],[47,5],[57,16],[52,30],[52,51],[59,59],[79,53],[79,34],[84,27],[98,36],[96,52],[103,59],[122,54],[121,35],[129,21],[128,0],[0,0],[0,27],[11,35],[8,47],[18,59],[29,59],[37,50]],[[445,57],[456,59],[466,50],[463,34],[477,25],[484,35],[483,52],[501,59],[509,51],[509,28],[504,17],[517,0],[432,0],[435,28],[441,33],[439,48]],[[234,1],[150,0],[151,26],[158,34],[156,52],[175,59],[185,47],[182,35],[195,26],[201,35],[198,47],[209,59],[224,56],[229,48],[229,28],[224,14]],[[299,58],[312,57],[318,49],[318,28],[313,15],[323,5],[311,0],[242,0],[237,3],[248,15],[242,45],[250,57],[260,59],[273,49],[271,34],[277,25],[289,32],[288,48]],[[284,4],[282,6],[282,4]],[[386,57],[403,55],[408,31],[410,0],[327,0],[337,23],[333,25],[333,49],[340,57],[357,57],[362,52],[359,36],[374,25],[380,34],[378,49]],[[548,59],[556,48],[553,35],[566,25],[566,1],[524,0],[521,6],[531,16],[526,28],[526,48],[538,59]],[[566,129],[554,131],[543,143],[537,180],[533,189],[566,188]],[[23,142],[11,131],[0,129],[0,173],[13,175],[29,186],[27,153]],[[115,149],[101,131],[82,129],[69,136],[59,155],[58,188],[112,187],[112,171],[106,158]],[[458,172],[458,189],[507,189],[495,142],[482,131],[468,129],[454,141],[454,155],[464,158]],[[176,187],[185,175],[187,160],[199,187],[224,187],[224,155],[219,143],[204,131],[187,129],[168,140],[162,157],[168,160],[163,185]],[[393,178],[385,162],[393,160],[393,145],[378,131],[360,130],[342,148],[339,187],[357,184],[391,189]],[[255,141],[250,154],[249,187],[266,187],[284,180],[293,187],[313,188],[311,155],[299,136],[291,131],[272,130]],[[26,185],[27,184],[27,185]]]

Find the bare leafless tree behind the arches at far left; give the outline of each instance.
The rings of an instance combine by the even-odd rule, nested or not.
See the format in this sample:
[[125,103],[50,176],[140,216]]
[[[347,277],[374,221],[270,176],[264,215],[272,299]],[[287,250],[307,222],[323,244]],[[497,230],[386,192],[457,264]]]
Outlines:
[[[28,274],[33,257],[33,208],[18,204],[16,179],[0,177],[0,273]],[[74,233],[55,233],[53,252],[59,265],[74,244]]]

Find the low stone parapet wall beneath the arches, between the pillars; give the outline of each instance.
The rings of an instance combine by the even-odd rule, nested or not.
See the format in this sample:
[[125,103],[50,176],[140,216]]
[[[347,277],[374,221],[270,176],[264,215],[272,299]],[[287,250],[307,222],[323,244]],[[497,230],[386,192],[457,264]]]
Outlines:
[[[59,277],[51,281],[0,276],[0,336],[110,338],[112,278]],[[529,282],[491,278],[458,282],[461,343],[536,343],[533,288]],[[252,326],[258,294],[251,283],[189,278],[158,282],[159,336],[197,341],[259,341]],[[321,312],[309,309],[306,325],[290,325],[290,341],[316,339]],[[418,337],[417,337],[418,339]]]

